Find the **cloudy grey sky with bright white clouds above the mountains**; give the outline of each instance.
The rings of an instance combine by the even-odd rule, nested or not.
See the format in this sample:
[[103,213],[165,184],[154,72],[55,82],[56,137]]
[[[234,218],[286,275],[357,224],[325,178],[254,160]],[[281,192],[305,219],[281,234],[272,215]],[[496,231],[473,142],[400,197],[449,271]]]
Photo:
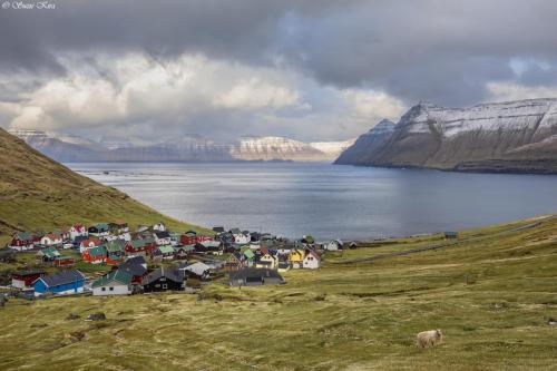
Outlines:
[[0,2],[4,128],[338,140],[557,96],[555,0]]

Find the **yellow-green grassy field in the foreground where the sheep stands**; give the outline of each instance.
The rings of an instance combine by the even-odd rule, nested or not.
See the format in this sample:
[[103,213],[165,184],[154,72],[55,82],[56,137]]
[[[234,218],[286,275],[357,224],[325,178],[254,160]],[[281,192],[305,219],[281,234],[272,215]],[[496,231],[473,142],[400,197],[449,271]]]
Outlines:
[[[333,264],[439,236],[331,254],[319,271],[285,273],[285,285],[213,283],[204,300],[12,300],[0,309],[0,369],[557,369],[557,326],[547,324],[557,318],[557,221],[497,234],[508,228],[373,263]],[[106,321],[82,321],[98,311]],[[443,343],[417,349],[416,334],[429,329],[441,329]]]

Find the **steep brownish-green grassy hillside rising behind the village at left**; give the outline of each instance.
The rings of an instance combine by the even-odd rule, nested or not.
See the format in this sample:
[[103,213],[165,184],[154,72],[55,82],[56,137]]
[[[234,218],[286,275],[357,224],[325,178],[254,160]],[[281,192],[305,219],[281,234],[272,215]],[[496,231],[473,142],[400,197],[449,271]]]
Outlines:
[[133,226],[162,221],[178,231],[193,227],[71,172],[2,129],[0,174],[0,243],[13,231],[48,231],[76,222],[124,218]]

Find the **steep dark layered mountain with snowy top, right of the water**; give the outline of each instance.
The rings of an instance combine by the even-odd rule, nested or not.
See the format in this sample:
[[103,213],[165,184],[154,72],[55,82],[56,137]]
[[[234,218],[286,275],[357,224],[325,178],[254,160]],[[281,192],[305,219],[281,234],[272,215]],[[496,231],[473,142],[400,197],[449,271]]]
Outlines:
[[[369,137],[377,140],[370,140]],[[367,139],[368,138],[368,139]],[[443,108],[419,104],[392,133],[373,129],[336,164],[557,173],[557,99]]]

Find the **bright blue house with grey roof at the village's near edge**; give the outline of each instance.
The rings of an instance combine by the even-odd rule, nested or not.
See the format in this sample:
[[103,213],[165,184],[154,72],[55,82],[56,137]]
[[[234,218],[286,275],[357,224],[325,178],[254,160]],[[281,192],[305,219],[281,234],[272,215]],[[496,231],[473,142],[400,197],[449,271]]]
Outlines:
[[85,275],[77,271],[65,271],[38,279],[33,283],[35,296],[47,294],[67,295],[84,292]]

